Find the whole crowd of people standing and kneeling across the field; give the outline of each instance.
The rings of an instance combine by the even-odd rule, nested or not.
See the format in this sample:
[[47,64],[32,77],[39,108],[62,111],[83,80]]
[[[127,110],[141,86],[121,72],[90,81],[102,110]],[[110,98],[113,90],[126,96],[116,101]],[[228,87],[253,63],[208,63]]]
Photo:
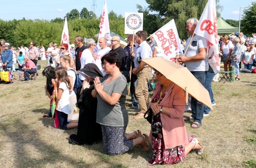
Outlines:
[[[208,90],[214,106],[211,82],[215,74],[208,64],[208,40],[193,35],[197,24],[196,18],[187,20],[186,30],[190,37],[182,41],[187,52],[176,55],[175,63],[186,66]],[[15,52],[19,53],[16,59],[19,70],[24,71],[25,80],[30,80],[29,75],[36,73],[37,60],[47,57],[42,74],[46,77],[46,93],[54,108],[45,117],[55,117],[54,125],[63,130],[77,128],[77,134],[69,137],[70,144],[103,142],[103,148],[109,155],[119,155],[134,146],[142,146],[142,151],[148,151],[149,141],[152,141],[153,156],[148,165],[180,163],[191,150],[198,155],[204,150],[197,137],[187,135],[185,121],[193,121],[191,127],[200,128],[203,117],[211,110],[193,97],[189,97],[190,106],[187,106],[186,94],[180,86],[154,66],[150,68],[141,61],[163,57],[154,38],[151,36],[147,42],[147,37],[146,31],[128,35],[128,45],[124,48],[120,46],[119,36],[113,36],[111,44],[101,37],[98,39],[100,48],[95,49],[95,40],[90,38],[84,45],[83,38],[76,36],[75,44],[70,46],[62,43],[58,48],[56,43],[50,42],[45,50],[43,46],[35,47],[35,42],[30,42],[29,49],[21,46]],[[189,44],[191,38],[193,43]],[[238,37],[224,35],[220,38],[224,70],[234,65],[236,80],[239,80],[239,62],[243,60],[245,68],[252,68],[256,41],[245,39],[243,33]],[[12,72],[13,51],[4,40],[1,40],[0,51],[3,68]],[[132,72],[131,77],[129,71]],[[151,99],[148,93],[150,79],[156,80]],[[142,134],[139,128],[126,134],[129,122],[125,104],[128,82],[132,94],[132,104],[128,106],[138,110],[134,119],[144,118],[148,109],[154,113],[149,136]],[[79,114],[74,114],[76,104]],[[191,111],[192,115],[183,117],[185,111]]]

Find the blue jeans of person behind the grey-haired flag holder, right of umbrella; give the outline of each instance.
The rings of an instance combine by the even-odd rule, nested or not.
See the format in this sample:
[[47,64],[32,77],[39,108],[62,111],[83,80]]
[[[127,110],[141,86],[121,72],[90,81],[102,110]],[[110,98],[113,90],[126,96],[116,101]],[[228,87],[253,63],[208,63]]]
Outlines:
[[[213,80],[214,75],[215,75],[214,72],[208,71],[206,74],[206,77],[205,77],[205,82],[204,82],[204,88],[206,88],[206,90],[209,92],[211,102],[214,101],[213,92],[211,89],[211,82]],[[204,114],[209,114],[210,111],[211,111],[211,109],[208,106],[204,106]]]

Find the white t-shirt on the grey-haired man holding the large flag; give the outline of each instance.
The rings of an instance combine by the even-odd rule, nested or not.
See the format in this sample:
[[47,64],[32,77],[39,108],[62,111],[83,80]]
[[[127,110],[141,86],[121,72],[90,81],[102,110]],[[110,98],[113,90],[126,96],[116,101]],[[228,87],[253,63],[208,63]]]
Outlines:
[[[189,44],[191,37],[187,39],[186,44]],[[185,57],[193,57],[199,53],[199,48],[208,48],[208,40],[206,38],[200,37],[198,35],[195,35],[192,39],[191,44],[188,46],[186,45],[187,53]],[[195,61],[195,62],[185,62],[186,67],[189,71],[208,71],[208,57],[206,55],[206,58],[204,60]]]

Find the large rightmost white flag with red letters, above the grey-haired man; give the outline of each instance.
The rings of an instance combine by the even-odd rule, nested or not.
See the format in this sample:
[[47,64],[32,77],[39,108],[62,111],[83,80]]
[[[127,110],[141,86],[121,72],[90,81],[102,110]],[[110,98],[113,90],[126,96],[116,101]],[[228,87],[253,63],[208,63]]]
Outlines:
[[208,0],[194,32],[208,40],[208,63],[214,73],[219,73],[219,46],[215,0]]

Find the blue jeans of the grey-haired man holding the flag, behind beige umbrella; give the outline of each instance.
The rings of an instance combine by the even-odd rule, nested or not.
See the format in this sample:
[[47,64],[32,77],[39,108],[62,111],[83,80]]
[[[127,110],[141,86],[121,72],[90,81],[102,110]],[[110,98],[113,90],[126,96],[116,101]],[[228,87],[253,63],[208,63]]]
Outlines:
[[[191,73],[197,78],[197,80],[204,86],[205,77],[207,71],[191,71]],[[191,117],[194,118],[194,122],[202,123],[204,117],[204,105],[191,97]]]

